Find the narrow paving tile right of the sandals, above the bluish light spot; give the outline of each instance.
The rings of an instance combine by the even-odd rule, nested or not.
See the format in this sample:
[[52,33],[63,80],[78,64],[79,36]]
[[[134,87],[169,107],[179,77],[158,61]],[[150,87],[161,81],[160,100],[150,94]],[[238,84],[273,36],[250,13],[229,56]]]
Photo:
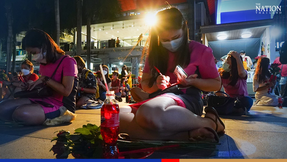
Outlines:
[[225,121],[225,128],[233,130],[287,132],[286,127],[287,123],[279,122]]

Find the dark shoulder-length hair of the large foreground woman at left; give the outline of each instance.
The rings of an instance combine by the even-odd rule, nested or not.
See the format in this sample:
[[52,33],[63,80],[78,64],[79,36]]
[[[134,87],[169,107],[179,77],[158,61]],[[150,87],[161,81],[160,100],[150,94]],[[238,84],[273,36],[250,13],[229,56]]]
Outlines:
[[22,49],[26,50],[27,47],[42,48],[42,54],[46,52],[47,63],[55,63],[57,61],[56,54],[65,54],[50,35],[39,29],[31,29],[26,32],[26,36],[22,39]]

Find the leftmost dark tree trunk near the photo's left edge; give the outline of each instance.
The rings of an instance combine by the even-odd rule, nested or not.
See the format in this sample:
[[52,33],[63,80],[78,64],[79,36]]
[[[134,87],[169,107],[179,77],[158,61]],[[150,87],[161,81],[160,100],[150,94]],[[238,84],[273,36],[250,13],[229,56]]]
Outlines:
[[11,57],[12,57],[12,45],[13,45],[13,34],[12,34],[12,25],[13,25],[13,18],[12,18],[12,2],[6,1],[6,14],[7,14],[7,24],[8,24],[8,37],[7,37],[7,59],[6,59],[6,74],[8,71],[11,71]]

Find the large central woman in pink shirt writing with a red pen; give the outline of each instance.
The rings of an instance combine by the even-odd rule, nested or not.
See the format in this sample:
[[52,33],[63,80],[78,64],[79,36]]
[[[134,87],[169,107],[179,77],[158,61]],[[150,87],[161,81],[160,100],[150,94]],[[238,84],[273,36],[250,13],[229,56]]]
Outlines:
[[[150,30],[142,88],[153,93],[177,82],[190,88],[183,94],[168,93],[122,106],[120,132],[129,134],[131,138],[147,140],[188,141],[198,136],[218,139],[217,133],[224,133],[224,124],[214,108],[205,108],[205,117],[201,117],[201,90],[214,91],[221,84],[212,50],[189,40],[186,20],[177,8],[158,12],[156,20],[156,25]],[[189,77],[177,79],[173,74],[177,65]]]

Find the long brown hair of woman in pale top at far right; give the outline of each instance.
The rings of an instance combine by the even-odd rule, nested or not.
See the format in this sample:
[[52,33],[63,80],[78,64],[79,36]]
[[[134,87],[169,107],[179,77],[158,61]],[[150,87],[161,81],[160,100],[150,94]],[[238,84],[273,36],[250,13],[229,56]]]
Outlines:
[[258,83],[262,83],[265,81],[266,76],[268,78],[271,77],[271,73],[268,70],[268,65],[270,64],[270,60],[267,57],[261,57],[257,61],[257,66],[254,74],[254,79],[258,80]]

